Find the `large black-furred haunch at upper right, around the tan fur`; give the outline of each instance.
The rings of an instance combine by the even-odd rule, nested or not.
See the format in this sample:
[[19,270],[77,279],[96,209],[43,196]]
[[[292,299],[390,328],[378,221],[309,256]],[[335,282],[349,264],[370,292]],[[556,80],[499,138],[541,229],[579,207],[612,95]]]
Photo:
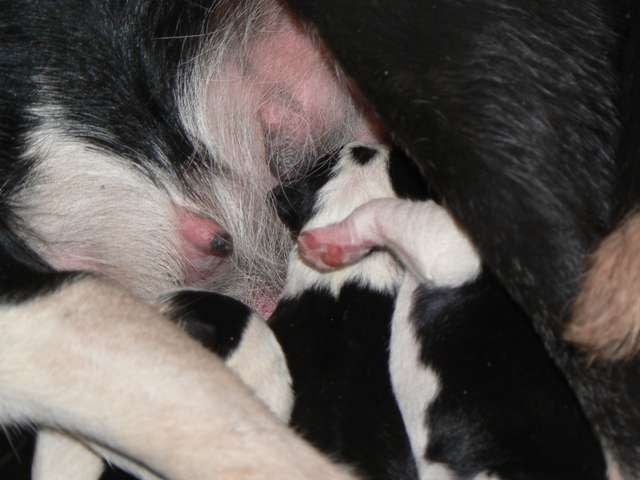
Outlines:
[[590,364],[561,340],[585,258],[615,218],[616,35],[629,3],[289,3],[442,194],[637,478],[640,363]]

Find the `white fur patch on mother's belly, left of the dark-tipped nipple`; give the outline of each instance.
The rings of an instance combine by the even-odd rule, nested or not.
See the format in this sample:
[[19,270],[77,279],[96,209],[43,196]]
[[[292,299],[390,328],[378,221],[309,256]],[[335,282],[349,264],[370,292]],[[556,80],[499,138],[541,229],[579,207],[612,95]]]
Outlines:
[[33,172],[12,199],[32,248],[57,270],[98,271],[148,300],[182,284],[176,182],[154,185],[129,160],[42,122],[25,154]]

